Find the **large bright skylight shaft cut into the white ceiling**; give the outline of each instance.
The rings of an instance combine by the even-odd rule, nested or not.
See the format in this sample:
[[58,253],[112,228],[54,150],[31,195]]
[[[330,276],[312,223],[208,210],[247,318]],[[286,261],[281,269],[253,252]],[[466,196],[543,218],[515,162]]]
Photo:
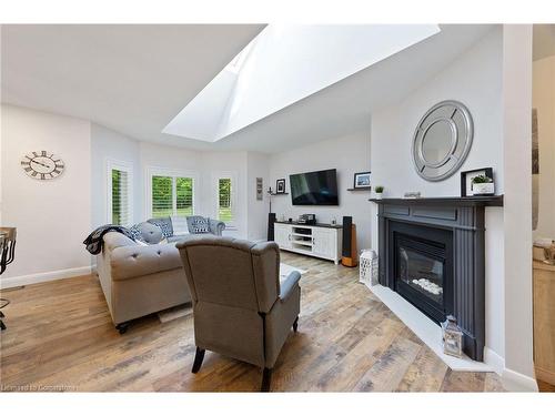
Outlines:
[[438,32],[436,24],[268,26],[163,133],[215,142]]

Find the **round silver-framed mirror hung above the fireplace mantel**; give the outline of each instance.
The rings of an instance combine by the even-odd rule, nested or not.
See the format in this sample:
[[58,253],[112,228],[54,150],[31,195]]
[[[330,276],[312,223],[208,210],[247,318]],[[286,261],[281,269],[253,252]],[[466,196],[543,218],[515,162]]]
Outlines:
[[468,109],[457,101],[442,101],[421,119],[413,140],[413,161],[418,175],[441,181],[463,164],[473,139]]

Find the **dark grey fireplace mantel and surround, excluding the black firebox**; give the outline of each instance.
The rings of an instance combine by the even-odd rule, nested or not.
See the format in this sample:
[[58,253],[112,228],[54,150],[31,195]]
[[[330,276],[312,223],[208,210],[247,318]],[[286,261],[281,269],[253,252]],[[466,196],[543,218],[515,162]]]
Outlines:
[[503,206],[503,195],[477,197],[372,199],[379,207],[380,284],[395,287],[394,244],[400,224],[432,236],[446,230],[452,236],[452,313],[463,329],[463,351],[483,361],[485,346],[485,207]]

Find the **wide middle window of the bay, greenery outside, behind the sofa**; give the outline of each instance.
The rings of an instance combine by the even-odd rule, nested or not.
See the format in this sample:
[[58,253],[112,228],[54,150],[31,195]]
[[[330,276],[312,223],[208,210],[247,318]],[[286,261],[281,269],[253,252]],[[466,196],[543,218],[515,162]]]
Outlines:
[[151,216],[189,216],[194,214],[194,174],[151,172]]

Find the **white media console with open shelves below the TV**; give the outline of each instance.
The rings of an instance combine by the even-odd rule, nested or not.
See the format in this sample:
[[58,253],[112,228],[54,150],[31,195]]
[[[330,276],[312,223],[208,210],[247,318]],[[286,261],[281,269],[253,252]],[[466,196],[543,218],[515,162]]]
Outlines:
[[281,250],[331,260],[341,260],[342,225],[274,223],[274,241]]

